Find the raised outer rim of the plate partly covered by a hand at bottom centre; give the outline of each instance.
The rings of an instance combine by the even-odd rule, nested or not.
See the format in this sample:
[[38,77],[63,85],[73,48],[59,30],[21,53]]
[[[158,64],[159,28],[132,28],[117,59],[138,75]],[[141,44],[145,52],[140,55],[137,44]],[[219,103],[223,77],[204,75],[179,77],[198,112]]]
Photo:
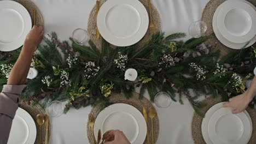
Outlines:
[[[143,143],[146,138],[146,134],[147,134],[147,124],[145,122],[145,119],[144,119],[142,113],[139,112],[139,110],[137,110],[135,107],[128,105],[128,104],[123,104],[123,103],[109,105],[108,107],[106,107],[104,110],[102,110],[98,114],[98,116],[95,120],[95,124],[94,124],[95,139],[97,139],[98,130],[99,129],[102,130],[102,125],[103,125],[106,117],[108,117],[109,115],[111,115],[112,113],[115,113],[115,112],[130,113],[130,115],[132,115],[136,119],[136,121],[138,123],[138,136],[137,136],[137,139],[133,142],[133,144]],[[104,132],[106,132],[106,131],[102,131],[102,133],[104,133]]]

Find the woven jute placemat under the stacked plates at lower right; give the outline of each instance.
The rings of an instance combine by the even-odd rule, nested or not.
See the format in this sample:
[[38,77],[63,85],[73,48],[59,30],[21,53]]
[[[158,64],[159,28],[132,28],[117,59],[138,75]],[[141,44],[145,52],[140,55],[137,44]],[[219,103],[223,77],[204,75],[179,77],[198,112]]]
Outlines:
[[[202,113],[206,113],[213,105],[216,105],[220,102],[222,102],[221,98],[212,98],[209,97],[202,101],[203,103],[207,104],[206,107],[203,107],[200,111]],[[246,111],[249,113],[251,119],[252,119],[252,124],[253,124],[253,131],[252,131],[252,137],[249,140],[248,144],[255,144],[256,143],[256,110],[247,108]],[[193,140],[194,143],[196,144],[205,144],[205,140],[203,140],[202,136],[202,117],[194,113],[192,122],[191,122],[191,128],[192,128],[192,135],[193,135]]]

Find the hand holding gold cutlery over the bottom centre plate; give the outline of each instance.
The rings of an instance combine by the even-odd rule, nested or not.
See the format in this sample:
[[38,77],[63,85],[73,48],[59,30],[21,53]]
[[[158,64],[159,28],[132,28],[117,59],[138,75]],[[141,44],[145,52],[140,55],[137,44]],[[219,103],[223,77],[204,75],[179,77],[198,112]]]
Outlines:
[[[114,140],[109,141],[113,136],[114,136]],[[131,144],[127,139],[127,137],[124,135],[123,131],[120,131],[120,130],[109,131],[106,137],[107,138],[104,144]]]

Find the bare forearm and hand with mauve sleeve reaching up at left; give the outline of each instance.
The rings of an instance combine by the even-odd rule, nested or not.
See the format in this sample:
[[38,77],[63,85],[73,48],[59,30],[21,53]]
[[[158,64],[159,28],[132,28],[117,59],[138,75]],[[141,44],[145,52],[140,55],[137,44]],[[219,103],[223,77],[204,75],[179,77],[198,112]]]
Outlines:
[[8,85],[0,93],[0,144],[8,142],[11,124],[18,109],[19,98],[26,87],[26,77],[30,69],[36,46],[42,41],[43,27],[33,27],[28,33],[20,56],[10,72]]

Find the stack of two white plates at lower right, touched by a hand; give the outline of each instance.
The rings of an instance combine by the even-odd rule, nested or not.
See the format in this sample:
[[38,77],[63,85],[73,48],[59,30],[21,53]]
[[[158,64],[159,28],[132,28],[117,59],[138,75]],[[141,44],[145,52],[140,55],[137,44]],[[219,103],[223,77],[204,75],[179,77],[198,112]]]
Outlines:
[[247,111],[232,114],[219,103],[206,112],[202,135],[207,144],[246,144],[252,136],[252,119]]

